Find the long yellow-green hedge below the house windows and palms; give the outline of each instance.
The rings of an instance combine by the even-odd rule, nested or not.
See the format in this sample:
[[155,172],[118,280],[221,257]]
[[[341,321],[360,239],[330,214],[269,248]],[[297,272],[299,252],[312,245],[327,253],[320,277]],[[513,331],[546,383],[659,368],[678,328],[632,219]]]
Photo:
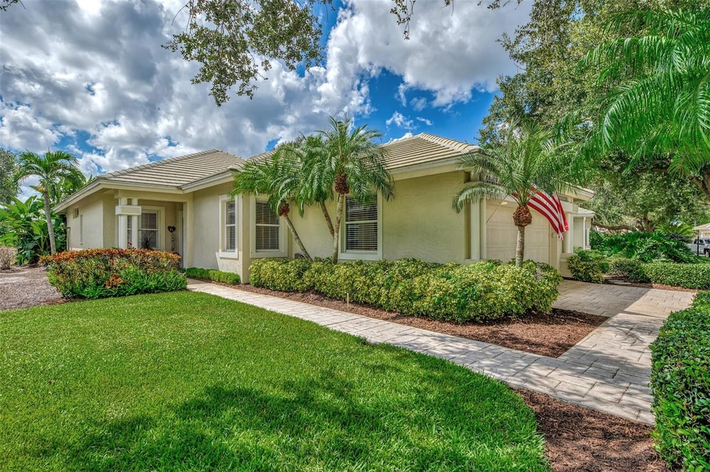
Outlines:
[[332,264],[324,259],[312,263],[259,259],[250,270],[251,284],[256,287],[315,290],[338,300],[460,323],[515,317],[530,309],[549,311],[562,280],[550,265],[532,261],[515,268],[499,261],[459,265],[400,259]]

